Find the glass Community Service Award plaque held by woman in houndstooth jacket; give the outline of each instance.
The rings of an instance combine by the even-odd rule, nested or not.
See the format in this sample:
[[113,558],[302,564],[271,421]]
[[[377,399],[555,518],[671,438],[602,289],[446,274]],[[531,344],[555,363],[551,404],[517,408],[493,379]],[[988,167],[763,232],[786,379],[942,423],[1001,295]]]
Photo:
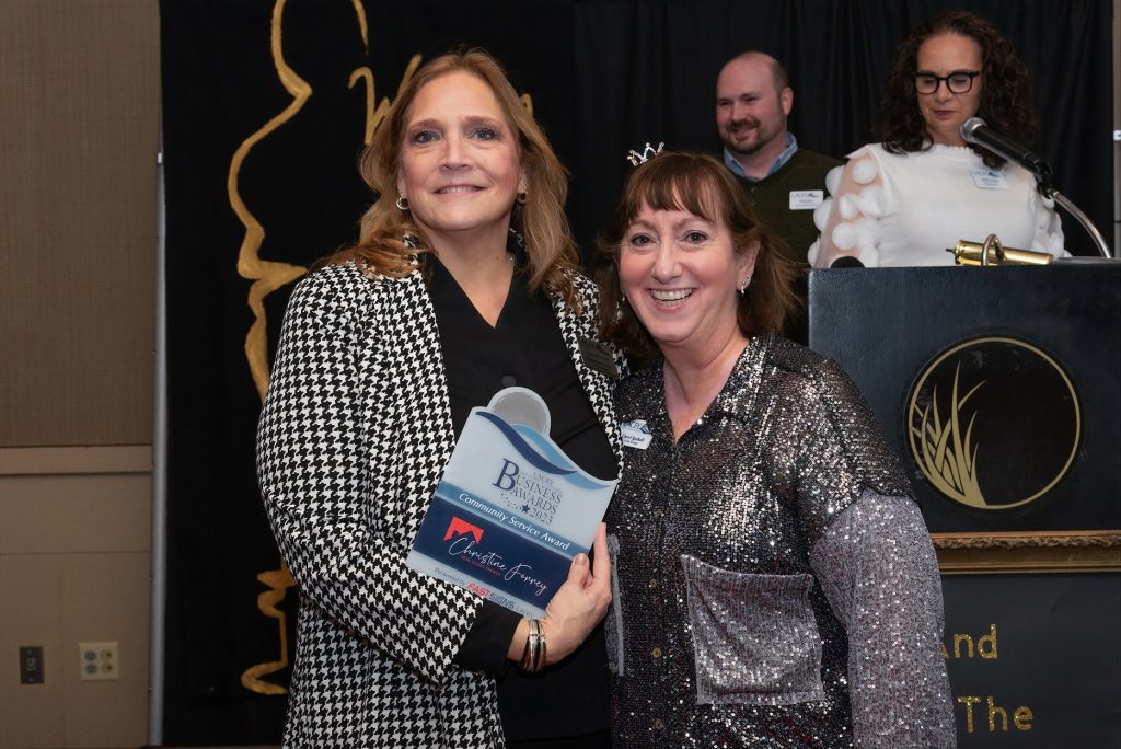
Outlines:
[[589,553],[617,483],[582,471],[548,433],[548,407],[527,388],[473,408],[408,565],[541,617],[573,557]]

